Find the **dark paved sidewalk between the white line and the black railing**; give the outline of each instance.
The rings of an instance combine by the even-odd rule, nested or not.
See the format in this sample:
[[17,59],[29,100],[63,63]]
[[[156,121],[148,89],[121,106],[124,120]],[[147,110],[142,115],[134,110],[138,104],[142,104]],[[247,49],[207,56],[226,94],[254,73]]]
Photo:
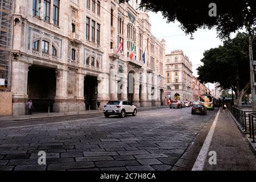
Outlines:
[[210,165],[208,162],[210,156],[207,156],[205,171],[256,170],[255,152],[228,110],[225,114],[222,110],[220,112],[209,151],[216,151],[217,165]]

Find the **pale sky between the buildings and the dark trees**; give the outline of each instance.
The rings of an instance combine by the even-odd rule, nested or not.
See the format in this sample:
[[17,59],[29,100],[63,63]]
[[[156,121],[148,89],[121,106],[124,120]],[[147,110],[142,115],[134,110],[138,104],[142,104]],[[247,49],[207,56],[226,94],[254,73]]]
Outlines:
[[[182,49],[192,62],[194,76],[198,76],[196,69],[201,65],[204,51],[222,45],[216,30],[200,29],[193,34],[195,39],[191,40],[191,35],[185,35],[179,27],[179,22],[166,23],[161,13],[150,12],[149,15],[152,34],[159,40],[166,40],[166,54]],[[210,89],[214,88],[213,84],[209,85]]]

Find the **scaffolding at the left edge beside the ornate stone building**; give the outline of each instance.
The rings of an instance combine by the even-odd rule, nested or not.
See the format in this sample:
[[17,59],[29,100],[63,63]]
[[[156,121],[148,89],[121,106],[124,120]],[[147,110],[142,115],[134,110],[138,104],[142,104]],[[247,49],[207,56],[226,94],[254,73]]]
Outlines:
[[14,0],[0,0],[0,92],[10,90],[13,3]]

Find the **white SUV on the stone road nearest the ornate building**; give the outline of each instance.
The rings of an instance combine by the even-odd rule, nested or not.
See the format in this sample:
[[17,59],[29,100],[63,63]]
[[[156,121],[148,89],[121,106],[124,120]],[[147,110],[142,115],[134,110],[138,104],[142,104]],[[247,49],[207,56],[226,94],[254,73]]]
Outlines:
[[132,105],[129,101],[109,101],[104,106],[104,115],[108,118],[110,115],[119,115],[124,118],[127,114],[137,115],[137,107]]

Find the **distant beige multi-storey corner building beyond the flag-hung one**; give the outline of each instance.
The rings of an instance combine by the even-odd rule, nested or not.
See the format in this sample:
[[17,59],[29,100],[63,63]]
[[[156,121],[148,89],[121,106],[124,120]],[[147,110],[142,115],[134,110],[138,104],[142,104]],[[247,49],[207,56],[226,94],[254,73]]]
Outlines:
[[183,51],[166,55],[167,98],[192,101],[192,63]]

